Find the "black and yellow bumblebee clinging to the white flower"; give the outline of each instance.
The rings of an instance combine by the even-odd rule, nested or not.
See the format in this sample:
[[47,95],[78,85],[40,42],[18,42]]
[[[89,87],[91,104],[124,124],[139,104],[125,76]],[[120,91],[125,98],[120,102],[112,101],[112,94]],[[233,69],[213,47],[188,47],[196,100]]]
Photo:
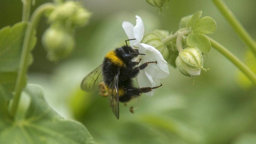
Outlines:
[[[135,39],[129,39],[135,40]],[[145,62],[137,66],[140,61],[133,61],[140,54],[136,49],[126,45],[110,51],[104,57],[103,63],[84,77],[81,89],[87,92],[95,92],[100,89],[100,95],[107,96],[112,112],[119,119],[119,102],[126,103],[131,99],[139,98],[142,93],[150,92],[152,89],[161,87],[138,88],[133,84],[140,70],[148,64],[157,64],[157,61]]]

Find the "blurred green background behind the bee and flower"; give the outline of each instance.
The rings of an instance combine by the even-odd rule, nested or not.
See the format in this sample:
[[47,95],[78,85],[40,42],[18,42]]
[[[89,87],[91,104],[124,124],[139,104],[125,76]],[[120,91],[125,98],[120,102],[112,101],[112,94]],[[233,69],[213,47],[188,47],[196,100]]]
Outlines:
[[[45,2],[50,1],[36,0],[32,10]],[[216,32],[209,36],[244,60],[247,47],[210,0],[170,0],[161,15],[144,0],[80,2],[93,15],[88,25],[76,30],[72,54],[57,63],[47,60],[41,35],[49,25],[42,19],[29,69],[29,83],[44,87],[46,101],[60,115],[82,122],[98,143],[256,143],[256,88],[215,49],[204,56],[204,67],[210,70],[195,77],[194,85],[191,78],[169,66],[163,86],[153,97],[142,95],[134,114],[129,108],[138,101],[120,104],[119,120],[107,98],[79,88],[82,78],[101,64],[108,51],[124,44],[122,21],[135,24],[135,15],[143,19],[145,33],[154,29],[175,32],[182,17],[202,10],[203,17],[217,23]],[[256,1],[225,2],[255,38]],[[21,1],[0,1],[0,28],[21,17]]]

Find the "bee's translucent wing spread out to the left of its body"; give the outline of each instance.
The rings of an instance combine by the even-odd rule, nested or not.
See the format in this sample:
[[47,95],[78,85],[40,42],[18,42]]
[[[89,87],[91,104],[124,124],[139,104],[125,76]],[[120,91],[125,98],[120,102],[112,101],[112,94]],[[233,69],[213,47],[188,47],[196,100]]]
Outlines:
[[81,89],[87,92],[95,92],[99,89],[99,83],[102,81],[102,64],[84,77],[81,83]]

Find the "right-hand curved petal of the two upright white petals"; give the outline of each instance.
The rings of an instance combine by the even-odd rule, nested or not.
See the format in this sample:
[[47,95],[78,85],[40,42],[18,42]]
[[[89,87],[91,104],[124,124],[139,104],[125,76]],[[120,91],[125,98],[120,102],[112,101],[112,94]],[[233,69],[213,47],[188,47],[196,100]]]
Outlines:
[[138,15],[136,15],[136,25],[133,28],[133,33],[134,33],[134,37],[137,40],[137,42],[134,44],[135,47],[138,47],[138,45],[140,44],[142,38],[143,38],[143,34],[144,34],[144,24],[143,21],[141,19],[141,17],[139,17]]

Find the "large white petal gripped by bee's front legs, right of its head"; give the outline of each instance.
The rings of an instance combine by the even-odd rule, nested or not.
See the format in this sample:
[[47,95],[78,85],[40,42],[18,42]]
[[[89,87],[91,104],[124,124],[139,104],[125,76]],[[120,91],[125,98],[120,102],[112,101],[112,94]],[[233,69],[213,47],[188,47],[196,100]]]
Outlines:
[[145,56],[141,56],[142,63],[157,61],[157,64],[150,63],[145,68],[145,71],[150,76],[152,76],[153,79],[162,79],[166,78],[169,75],[169,68],[167,62],[164,60],[162,54],[157,49],[155,49],[153,46],[141,43],[138,47],[138,51],[141,54],[146,54]]

